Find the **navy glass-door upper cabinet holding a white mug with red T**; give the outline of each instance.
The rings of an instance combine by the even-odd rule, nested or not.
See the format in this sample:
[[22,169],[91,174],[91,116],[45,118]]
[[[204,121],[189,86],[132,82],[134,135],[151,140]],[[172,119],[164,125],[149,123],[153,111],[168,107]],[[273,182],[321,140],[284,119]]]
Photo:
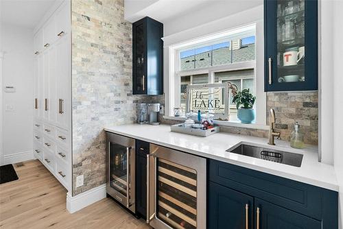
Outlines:
[[265,91],[318,90],[318,1],[264,0]]

